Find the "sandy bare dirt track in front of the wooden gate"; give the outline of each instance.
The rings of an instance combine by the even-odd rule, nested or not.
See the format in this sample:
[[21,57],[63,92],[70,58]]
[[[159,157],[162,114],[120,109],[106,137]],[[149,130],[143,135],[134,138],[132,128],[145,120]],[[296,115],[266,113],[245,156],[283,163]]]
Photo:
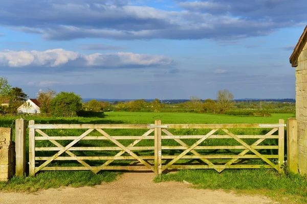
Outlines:
[[222,190],[199,190],[178,182],[153,183],[153,173],[125,173],[116,182],[95,187],[2,193],[0,203],[272,203],[266,197],[238,196]]

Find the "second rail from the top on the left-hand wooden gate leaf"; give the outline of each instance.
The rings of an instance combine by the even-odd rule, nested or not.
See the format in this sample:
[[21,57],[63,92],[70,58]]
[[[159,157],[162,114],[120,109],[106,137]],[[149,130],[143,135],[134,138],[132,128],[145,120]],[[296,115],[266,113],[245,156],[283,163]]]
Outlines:
[[[153,129],[151,129],[153,130]],[[111,136],[116,140],[153,140],[154,136]],[[48,137],[35,137],[35,140],[75,140],[77,136],[48,136]],[[108,140],[104,136],[86,136],[82,140]]]

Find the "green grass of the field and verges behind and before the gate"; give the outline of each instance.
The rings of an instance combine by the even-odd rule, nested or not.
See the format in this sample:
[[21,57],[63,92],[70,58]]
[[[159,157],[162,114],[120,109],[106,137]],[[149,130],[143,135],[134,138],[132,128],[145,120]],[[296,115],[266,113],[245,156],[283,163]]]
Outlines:
[[[73,117],[73,118],[46,118],[46,117],[24,117],[27,120],[35,120],[35,123],[65,123],[65,124],[153,124],[155,120],[160,119],[163,124],[171,123],[278,123],[278,119],[284,119],[285,121],[289,117],[294,117],[293,114],[272,114],[272,117],[254,117],[254,116],[229,116],[219,114],[198,114],[198,113],[140,113],[140,112],[107,112],[104,117]],[[15,127],[15,119],[18,117],[0,117],[0,126],[3,127]],[[141,135],[144,130],[105,130],[110,135]],[[177,131],[178,135],[203,135],[209,130],[170,130]],[[232,130],[235,134],[265,134],[264,129],[245,129],[245,130]],[[14,131],[13,131],[14,132]],[[84,132],[84,130],[45,130],[46,134],[50,136],[78,136]],[[93,136],[98,136],[98,132],[93,132]],[[216,140],[216,139],[215,139]],[[207,142],[211,142],[210,145],[236,145],[231,139],[218,139],[219,141],[205,141],[202,145],[208,145]],[[276,144],[276,139],[268,140],[270,145]],[[252,143],[254,140],[246,140],[247,143]],[[86,140],[81,141],[80,146],[115,146],[113,143],[100,140],[94,141]],[[131,140],[123,140],[122,144],[127,145]],[[143,140],[139,146],[153,145],[153,141]],[[188,144],[192,144],[195,140],[185,141]],[[62,145],[68,144],[68,141],[60,141]],[[48,141],[37,141],[38,146],[54,146]],[[175,145],[171,141],[164,143],[163,145]],[[203,150],[204,152],[206,150]],[[75,151],[77,156],[113,156],[118,151]],[[181,151],[174,152],[180,154]],[[203,153],[204,153],[203,152]],[[223,152],[223,151],[221,151]],[[228,152],[228,154],[238,154],[238,150]],[[172,152],[173,153],[173,152]],[[269,152],[270,153],[270,152]],[[272,152],[271,152],[272,153]],[[36,152],[36,156],[52,156],[55,152]],[[139,155],[152,155],[152,150],[139,152]],[[167,152],[163,152],[167,154]],[[207,154],[211,154],[207,151]],[[214,152],[216,154],[216,152]],[[223,152],[227,154],[227,152]],[[267,152],[268,154],[268,152]],[[87,162],[87,161],[86,161]],[[91,165],[101,165],[105,161],[89,161]],[[41,163],[41,161],[39,161]],[[129,161],[115,161],[113,165],[129,165]],[[76,166],[78,163],[54,162],[53,166]],[[118,174],[122,172],[115,171],[100,171],[98,174],[94,174],[91,171],[42,171],[35,177],[13,177],[8,183],[0,182],[0,190],[2,191],[26,191],[33,192],[39,189],[58,188],[60,186],[92,186],[98,185],[101,182],[112,182],[116,179]],[[261,175],[264,175],[261,178]],[[238,180],[237,178],[244,178]],[[279,174],[275,170],[268,169],[251,169],[251,170],[224,170],[222,173],[217,173],[214,170],[181,170],[176,174],[163,174],[161,179],[157,177],[156,182],[163,181],[188,181],[198,188],[211,188],[211,189],[239,189],[249,190],[250,193],[260,192],[263,190],[266,195],[276,196],[276,193],[280,196],[289,197],[291,201],[305,203],[307,182],[304,177],[299,175],[293,175],[292,173]],[[268,183],[269,182],[269,183]],[[296,189],[296,190],[293,190]],[[280,197],[279,196],[279,197]],[[279,200],[280,201],[280,200]],[[282,201],[282,200],[281,200]],[[288,200],[289,201],[289,200]]]

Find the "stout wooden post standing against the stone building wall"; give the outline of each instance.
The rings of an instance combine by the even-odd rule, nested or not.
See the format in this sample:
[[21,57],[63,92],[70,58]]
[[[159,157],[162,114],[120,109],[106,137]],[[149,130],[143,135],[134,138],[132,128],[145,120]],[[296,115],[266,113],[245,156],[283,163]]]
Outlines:
[[287,120],[287,166],[298,173],[297,120],[294,118]]

